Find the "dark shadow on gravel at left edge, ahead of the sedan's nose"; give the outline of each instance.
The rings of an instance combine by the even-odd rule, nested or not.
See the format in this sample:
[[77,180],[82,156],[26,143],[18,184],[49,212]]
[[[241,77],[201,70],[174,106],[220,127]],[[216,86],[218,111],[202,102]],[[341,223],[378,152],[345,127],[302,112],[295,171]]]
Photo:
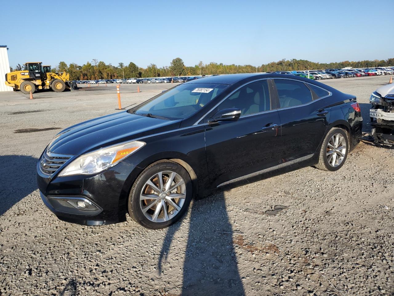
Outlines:
[[26,155],[0,155],[0,215],[37,189],[37,158]]

